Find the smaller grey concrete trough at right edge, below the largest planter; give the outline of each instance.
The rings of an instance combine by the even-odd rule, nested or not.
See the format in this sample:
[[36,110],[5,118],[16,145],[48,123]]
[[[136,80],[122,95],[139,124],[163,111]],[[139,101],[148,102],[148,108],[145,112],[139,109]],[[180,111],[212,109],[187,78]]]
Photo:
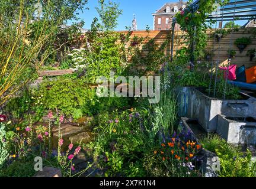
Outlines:
[[256,145],[256,119],[218,115],[217,133],[231,144]]

